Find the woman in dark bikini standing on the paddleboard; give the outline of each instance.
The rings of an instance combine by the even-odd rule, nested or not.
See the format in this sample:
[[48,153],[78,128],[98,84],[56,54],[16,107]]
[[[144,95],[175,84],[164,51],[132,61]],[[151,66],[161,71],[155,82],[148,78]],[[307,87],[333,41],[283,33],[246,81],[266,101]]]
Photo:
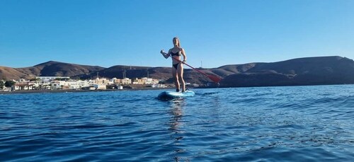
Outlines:
[[[182,86],[182,92],[185,92],[185,83],[183,80],[183,62],[187,61],[185,52],[180,45],[178,37],[173,37],[173,48],[169,50],[168,53],[161,50],[160,52],[167,59],[172,57],[172,75],[175,80],[176,91],[179,92],[180,83]],[[183,62],[181,61],[181,55],[183,56]]]

